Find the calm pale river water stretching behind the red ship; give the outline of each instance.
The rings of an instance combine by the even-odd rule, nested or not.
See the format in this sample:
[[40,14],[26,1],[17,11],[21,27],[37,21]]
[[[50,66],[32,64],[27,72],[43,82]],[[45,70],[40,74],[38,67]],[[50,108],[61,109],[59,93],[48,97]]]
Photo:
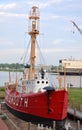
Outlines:
[[[18,77],[21,77],[21,73],[18,73]],[[15,79],[16,73],[11,73],[11,79]],[[58,75],[56,74],[49,74],[49,78],[53,85],[56,87],[58,86]],[[64,86],[64,76],[61,76],[62,84]],[[5,82],[9,81],[9,72],[0,71],[0,86],[4,86]],[[82,87],[82,76],[66,76],[66,86],[74,86],[74,87]]]

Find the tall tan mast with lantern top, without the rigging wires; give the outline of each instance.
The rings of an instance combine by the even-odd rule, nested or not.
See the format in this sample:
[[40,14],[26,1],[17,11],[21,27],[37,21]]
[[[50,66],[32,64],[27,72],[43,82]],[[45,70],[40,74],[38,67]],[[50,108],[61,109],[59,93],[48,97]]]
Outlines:
[[33,6],[29,15],[29,30],[28,34],[31,36],[31,52],[30,52],[30,68],[28,79],[35,78],[35,45],[36,36],[39,34],[39,10],[38,7]]

